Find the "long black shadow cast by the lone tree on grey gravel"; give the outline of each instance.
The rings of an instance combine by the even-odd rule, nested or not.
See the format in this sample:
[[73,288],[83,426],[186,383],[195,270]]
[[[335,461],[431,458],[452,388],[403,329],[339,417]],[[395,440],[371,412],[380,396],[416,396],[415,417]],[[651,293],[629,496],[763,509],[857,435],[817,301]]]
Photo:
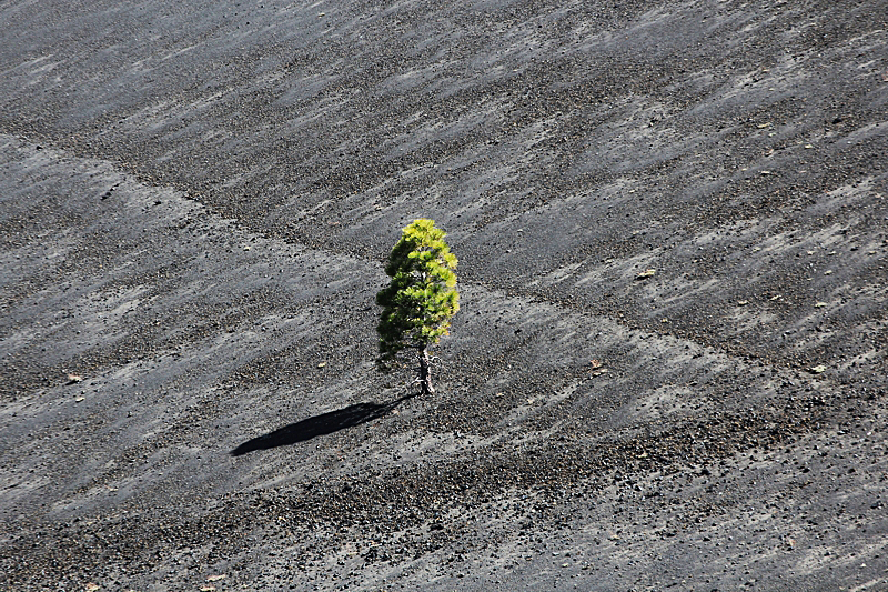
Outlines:
[[305,442],[319,435],[325,435],[346,428],[354,428],[377,418],[382,418],[413,395],[402,397],[390,403],[355,403],[344,409],[329,411],[290,425],[284,425],[273,432],[248,440],[231,451],[232,456],[240,456],[255,450],[270,450],[278,446],[289,446],[297,442]]

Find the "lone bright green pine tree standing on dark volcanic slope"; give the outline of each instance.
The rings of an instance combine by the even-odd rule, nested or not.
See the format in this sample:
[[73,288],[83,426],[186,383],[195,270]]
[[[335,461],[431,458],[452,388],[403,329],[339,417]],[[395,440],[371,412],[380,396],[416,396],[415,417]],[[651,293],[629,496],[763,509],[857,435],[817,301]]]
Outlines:
[[447,334],[451,319],[460,310],[456,255],[444,237],[434,220],[421,218],[407,225],[385,265],[392,281],[376,294],[376,304],[382,307],[377,362],[387,370],[403,350],[415,350],[422,394],[435,392],[428,347]]

